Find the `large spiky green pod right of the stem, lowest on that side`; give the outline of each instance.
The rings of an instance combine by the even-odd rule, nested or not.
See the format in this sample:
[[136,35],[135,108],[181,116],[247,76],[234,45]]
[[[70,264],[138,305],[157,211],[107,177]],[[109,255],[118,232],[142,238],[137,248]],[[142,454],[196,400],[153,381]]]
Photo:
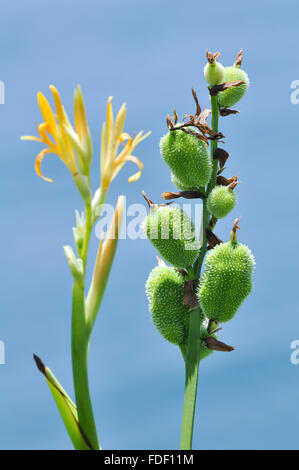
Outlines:
[[198,288],[205,315],[218,322],[231,320],[252,289],[254,257],[237,241],[217,245],[206,258]]

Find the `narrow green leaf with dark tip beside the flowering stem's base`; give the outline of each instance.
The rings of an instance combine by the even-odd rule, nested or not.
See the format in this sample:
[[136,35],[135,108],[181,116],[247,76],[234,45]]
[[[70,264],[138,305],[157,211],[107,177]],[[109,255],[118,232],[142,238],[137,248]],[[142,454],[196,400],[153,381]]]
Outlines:
[[92,450],[91,444],[80,427],[76,405],[70,399],[51,370],[43,364],[41,359],[35,354],[33,355],[33,358],[38,370],[45,376],[47,384],[49,385],[57,408],[75,449]]

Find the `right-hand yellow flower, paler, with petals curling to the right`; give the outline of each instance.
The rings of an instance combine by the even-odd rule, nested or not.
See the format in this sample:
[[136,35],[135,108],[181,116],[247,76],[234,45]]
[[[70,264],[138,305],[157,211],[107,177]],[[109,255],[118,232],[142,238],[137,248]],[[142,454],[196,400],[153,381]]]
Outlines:
[[[129,178],[129,182],[132,183],[140,178],[143,165],[137,157],[132,155],[132,152],[150,134],[148,132],[143,135],[141,131],[135,137],[131,137],[123,132],[127,113],[126,105],[125,103],[122,105],[114,122],[111,100],[112,97],[110,96],[107,103],[106,122],[102,127],[101,189],[103,191],[108,189],[110,183],[126,162],[133,162],[139,168],[139,171]],[[118,154],[120,144],[123,145],[123,148]]]

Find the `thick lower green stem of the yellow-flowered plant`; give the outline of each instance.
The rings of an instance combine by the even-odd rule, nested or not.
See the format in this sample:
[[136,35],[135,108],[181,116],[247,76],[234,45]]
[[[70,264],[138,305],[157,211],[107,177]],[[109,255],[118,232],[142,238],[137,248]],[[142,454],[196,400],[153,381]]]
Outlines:
[[74,281],[72,303],[72,362],[76,405],[80,426],[92,449],[99,449],[88,385],[88,347],[84,308],[84,285]]

